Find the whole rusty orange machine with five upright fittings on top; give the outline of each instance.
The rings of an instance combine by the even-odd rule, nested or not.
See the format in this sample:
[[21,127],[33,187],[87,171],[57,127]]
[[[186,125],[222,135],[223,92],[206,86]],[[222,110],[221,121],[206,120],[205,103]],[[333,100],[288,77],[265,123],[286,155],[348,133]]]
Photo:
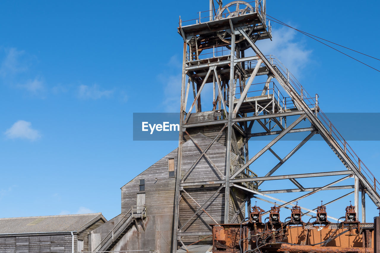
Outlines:
[[332,223],[321,204],[314,217],[317,221],[304,223],[297,203],[290,220],[281,222],[280,207],[275,205],[263,223],[264,210],[256,204],[241,224],[211,225],[212,252],[374,252],[374,223],[360,223],[351,204],[345,211],[344,221]]

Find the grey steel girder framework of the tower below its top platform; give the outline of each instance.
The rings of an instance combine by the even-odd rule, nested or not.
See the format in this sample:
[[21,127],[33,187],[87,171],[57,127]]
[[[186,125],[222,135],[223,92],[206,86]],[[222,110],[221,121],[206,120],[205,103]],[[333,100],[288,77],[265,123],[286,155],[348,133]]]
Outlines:
[[[250,38],[250,36],[245,33],[243,27],[234,27],[232,23],[230,23],[231,28],[231,43],[230,47],[230,55],[228,55],[228,59],[226,59],[226,55],[220,57],[221,60],[218,60],[213,57],[212,60],[194,60],[192,61],[190,58],[187,60],[187,47],[191,41],[191,38],[186,38],[184,34],[184,54],[183,54],[183,69],[182,69],[182,92],[181,92],[181,108],[180,108],[180,136],[179,136],[179,147],[178,147],[178,159],[177,159],[177,169],[176,169],[176,194],[175,194],[175,213],[174,213],[174,238],[173,238],[173,252],[176,252],[177,242],[181,240],[181,236],[193,235],[194,233],[181,231],[181,228],[184,227],[184,224],[179,226],[179,201],[182,196],[182,193],[187,194],[190,198],[190,194],[185,190],[185,188],[197,188],[202,187],[203,185],[217,185],[219,188],[215,191],[208,200],[212,198],[216,193],[218,193],[224,187],[225,193],[225,207],[224,207],[224,223],[233,222],[236,218],[241,215],[241,213],[234,213],[233,218],[229,220],[229,204],[230,204],[230,188],[235,187],[241,190],[246,191],[247,193],[254,194],[255,198],[261,199],[257,197],[261,195],[265,198],[274,199],[278,202],[282,202],[281,205],[284,208],[289,208],[289,206],[294,206],[293,202],[298,199],[306,198],[313,193],[319,191],[326,190],[344,190],[344,189],[352,189],[355,190],[348,194],[343,194],[339,198],[336,198],[329,203],[335,202],[349,194],[355,193],[355,206],[358,206],[358,190],[361,186],[362,193],[366,192],[370,199],[375,203],[376,206],[380,207],[380,197],[375,189],[372,187],[371,183],[367,180],[367,178],[361,173],[360,169],[356,166],[356,164],[348,157],[345,153],[345,150],[337,143],[337,141],[329,134],[329,130],[323,125],[323,123],[318,119],[318,105],[315,104],[314,108],[310,108],[308,104],[300,96],[294,87],[288,81],[288,76],[284,76],[281,71],[277,68],[277,66],[273,65],[270,60],[266,59],[266,57],[262,54],[262,52],[255,45],[254,41]],[[180,28],[179,28],[180,29]],[[244,51],[239,50],[239,44],[234,43],[234,39],[236,35],[244,36],[245,41],[249,43],[250,48],[253,49],[253,52],[256,54],[251,57],[244,57]],[[254,62],[254,68],[245,68],[245,64],[248,62]],[[250,72],[252,71],[252,72]],[[253,114],[247,112],[241,112],[241,106],[243,103],[247,102],[249,99],[248,92],[250,90],[251,85],[253,84],[253,80],[256,76],[266,74],[268,75],[268,79],[265,82],[264,89],[260,92],[261,96],[266,96],[268,93],[268,100],[270,100],[267,104],[258,104],[257,100],[252,99],[252,108]],[[188,82],[186,82],[186,77],[188,77]],[[287,109],[284,103],[280,106],[280,101],[275,100],[275,95],[272,94],[271,98],[269,96],[269,83],[271,79],[275,79],[283,90],[290,96],[292,103],[294,104],[294,108]],[[189,95],[189,86],[190,83],[200,84],[198,89],[195,91],[195,87],[193,86],[193,101],[190,106],[190,109],[187,110],[187,99]],[[186,87],[187,83],[187,87]],[[190,118],[190,114],[195,108],[195,112],[200,112],[199,108],[201,108],[201,100],[200,95],[203,90],[203,87],[207,84],[212,84],[214,88],[214,111],[223,112],[222,116],[218,117],[217,120],[205,120],[203,122],[188,122]],[[237,84],[241,87],[241,96],[236,98],[236,90]],[[236,102],[236,105],[235,105]],[[248,101],[249,102],[249,101]],[[247,103],[248,103],[247,102]],[[276,104],[277,103],[277,104]],[[277,110],[275,111],[275,107],[277,106]],[[284,108],[285,107],[285,108]],[[271,109],[268,109],[271,108]],[[298,118],[293,122],[288,122],[291,116],[298,115]],[[302,127],[296,128],[296,126],[302,121],[308,120],[311,124],[310,127]],[[254,122],[258,122],[260,126],[263,127],[264,132],[252,132],[252,125]],[[270,122],[268,124],[268,122]],[[273,125],[271,125],[273,124]],[[184,143],[184,134],[188,134],[186,131],[188,129],[193,129],[196,127],[202,126],[217,126],[220,125],[220,131],[217,136],[210,142],[206,149],[200,149],[201,153],[193,164],[193,166],[185,173],[184,176],[181,176],[181,159],[184,150],[182,150],[182,144]],[[269,127],[268,127],[269,125]],[[277,127],[279,130],[274,130]],[[237,145],[236,137],[234,136],[234,129],[239,130],[239,133],[242,134],[244,138],[243,144],[239,147]],[[207,151],[209,147],[217,140],[219,134],[222,131],[226,130],[226,164],[227,168],[224,171],[223,179],[220,180],[204,180],[201,182],[191,182],[187,180],[187,176],[192,173],[192,169],[196,167],[197,161],[199,161],[202,157],[206,157],[207,160],[210,160],[207,157]],[[274,150],[271,148],[277,141],[279,141],[283,136],[291,133],[298,132],[309,132],[309,134],[293,149],[288,153],[287,156],[281,158]],[[320,136],[328,143],[329,147],[336,153],[337,157],[344,163],[347,167],[345,171],[331,171],[331,172],[315,172],[308,174],[294,174],[294,175],[279,175],[272,176],[273,172],[276,171],[282,164],[284,164],[294,153],[296,153],[307,141],[312,138],[316,133],[320,134]],[[257,136],[269,136],[275,135],[275,138],[272,139],[267,145],[263,147],[258,153],[253,155],[250,159],[248,157],[248,140],[250,138],[255,138]],[[190,136],[191,138],[191,136]],[[192,138],[191,138],[192,139]],[[192,139],[193,140],[193,139]],[[193,142],[195,142],[193,140]],[[234,155],[237,157],[236,159],[232,159],[233,147],[235,148]],[[239,151],[240,150],[240,151]],[[253,175],[251,177],[247,177],[245,171],[249,170],[249,166],[254,163],[254,161],[260,157],[264,152],[270,151],[278,160],[279,163],[269,170],[265,176],[258,177],[257,175]],[[239,152],[238,152],[239,151]],[[245,155],[245,159],[241,158],[241,155]],[[210,160],[211,161],[211,160]],[[212,163],[212,161],[211,161]],[[213,163],[212,163],[213,164]],[[218,169],[219,171],[219,169]],[[223,171],[219,171],[223,172]],[[328,176],[337,176],[337,175],[348,175],[343,177],[342,179],[336,180],[328,185],[324,185],[321,187],[304,187],[301,185],[296,179],[299,178],[307,178],[307,177],[328,177]],[[344,185],[344,186],[332,186],[342,180],[345,180],[349,177],[354,177],[355,184],[354,185]],[[261,185],[263,182],[267,180],[282,180],[289,179],[296,185],[297,189],[283,189],[283,190],[257,190],[257,187]],[[247,183],[247,184],[245,184]],[[248,183],[252,183],[256,185],[256,188],[250,188]],[[281,199],[273,198],[268,194],[272,193],[288,193],[288,192],[308,192],[299,198],[292,199],[290,201],[284,201]],[[232,196],[234,198],[234,196]],[[363,198],[362,198],[363,199]],[[193,199],[195,201],[195,199]],[[268,200],[266,200],[268,201]],[[195,201],[196,202],[196,201]],[[270,202],[270,201],[269,201]],[[195,211],[192,217],[194,217],[199,212],[204,212],[207,214],[212,220],[214,218],[211,217],[207,213],[203,207],[206,205],[205,203],[198,203],[198,209]],[[236,202],[235,202],[236,203]],[[365,202],[362,201],[362,206],[365,206]],[[237,206],[238,210],[242,209],[242,206]],[[221,207],[222,208],[222,207]],[[310,212],[315,213],[315,210],[308,209],[307,207],[301,207],[306,211],[306,215]],[[329,217],[331,219],[337,220],[334,217]],[[215,221],[215,220],[214,220]],[[188,221],[187,221],[188,222]],[[207,231],[199,231],[199,235],[201,234],[209,234]],[[182,241],[181,241],[182,242]]]

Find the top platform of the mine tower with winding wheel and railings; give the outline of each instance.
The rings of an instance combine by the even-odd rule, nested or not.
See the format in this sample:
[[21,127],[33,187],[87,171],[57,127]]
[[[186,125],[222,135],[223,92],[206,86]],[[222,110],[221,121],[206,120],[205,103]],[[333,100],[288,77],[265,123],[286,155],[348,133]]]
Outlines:
[[[233,1],[223,7],[219,1],[217,8],[210,0],[210,10],[200,11],[198,19],[179,20],[178,33],[190,46],[187,59],[199,59],[203,50],[231,44],[233,27],[243,27],[253,41],[271,39],[271,24],[267,22],[265,13],[266,0]],[[236,47],[241,50],[249,47],[241,34],[236,33],[235,36]]]

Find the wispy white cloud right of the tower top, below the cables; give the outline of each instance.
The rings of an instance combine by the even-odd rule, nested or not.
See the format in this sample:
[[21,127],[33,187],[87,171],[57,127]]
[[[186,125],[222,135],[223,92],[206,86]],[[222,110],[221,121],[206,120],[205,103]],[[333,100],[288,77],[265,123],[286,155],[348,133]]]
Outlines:
[[275,55],[297,77],[305,64],[310,62],[312,50],[306,49],[296,34],[295,30],[288,27],[273,29],[272,41],[262,40],[256,44],[265,55]]

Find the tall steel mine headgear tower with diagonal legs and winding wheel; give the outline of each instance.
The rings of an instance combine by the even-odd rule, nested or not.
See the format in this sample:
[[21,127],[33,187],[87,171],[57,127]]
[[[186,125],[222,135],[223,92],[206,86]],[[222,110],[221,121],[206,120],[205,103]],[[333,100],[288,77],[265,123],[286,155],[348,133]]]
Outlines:
[[[222,6],[222,1],[218,1],[215,6],[211,0],[210,10],[199,13],[198,19],[190,22],[180,20],[178,32],[184,40],[184,48],[173,252],[176,252],[178,243],[186,245],[196,241],[194,236],[199,239],[200,236],[211,235],[211,230],[205,230],[204,226],[196,222],[201,213],[208,215],[214,223],[240,223],[245,215],[242,213],[245,210],[243,207],[247,203],[250,209],[252,197],[267,202],[270,201],[261,197],[274,199],[280,208],[289,208],[295,206],[296,201],[321,190],[347,191],[353,188],[353,192],[344,193],[337,199],[354,193],[355,206],[358,207],[360,190],[363,221],[365,193],[376,206],[380,206],[377,180],[321,111],[318,96],[310,96],[277,58],[264,55],[256,46],[256,41],[272,38],[271,25],[266,19],[265,0],[249,3],[234,1],[225,6]],[[253,128],[254,122],[261,130]],[[306,122],[307,127],[304,126]],[[280,157],[272,149],[285,135],[300,132],[305,132],[306,136],[285,157]],[[209,137],[209,141],[206,144],[197,143],[194,136],[198,133]],[[345,168],[341,171],[272,176],[317,133]],[[249,155],[248,141],[258,136],[274,138],[260,151]],[[183,144],[188,140],[194,142],[199,152],[191,164],[184,162],[188,161],[184,159],[188,153]],[[215,143],[225,147],[225,169],[218,168],[212,153],[207,152]],[[274,155],[274,159],[278,159],[278,164],[268,170],[253,167],[254,162],[267,151]],[[214,177],[203,176],[205,168],[197,170],[201,160],[207,161],[207,169],[214,173]],[[337,175],[342,177],[318,187],[306,187],[297,181],[299,178]],[[351,185],[333,186],[352,177],[355,182]],[[263,189],[258,190],[267,180],[283,179],[290,180],[296,188],[265,190],[263,185],[260,187]],[[271,196],[272,193],[289,192],[305,193],[286,201]],[[223,201],[212,203],[217,196],[222,196]],[[183,208],[183,202],[194,204],[190,214],[189,209]],[[306,211],[306,215],[316,213],[300,204],[299,208]],[[222,215],[213,216],[213,209],[220,210]]]

